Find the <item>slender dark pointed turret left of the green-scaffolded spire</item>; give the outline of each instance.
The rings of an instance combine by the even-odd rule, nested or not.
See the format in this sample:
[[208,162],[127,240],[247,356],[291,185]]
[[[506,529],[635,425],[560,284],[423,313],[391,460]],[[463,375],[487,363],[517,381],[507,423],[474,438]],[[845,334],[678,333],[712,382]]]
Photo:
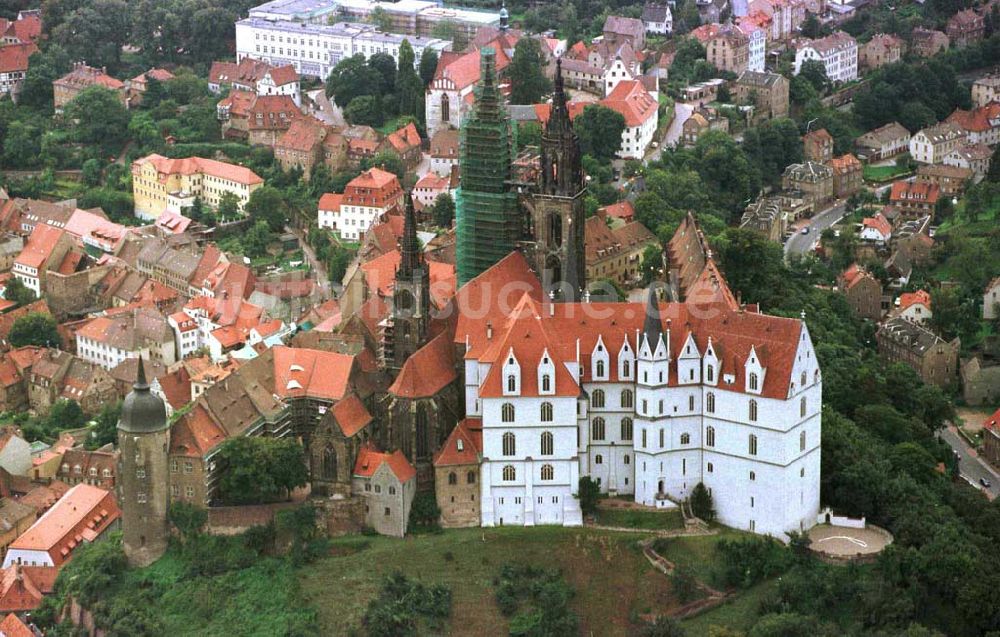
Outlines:
[[410,193],[406,194],[399,252],[399,270],[392,291],[392,356],[386,356],[386,362],[397,371],[426,341],[431,309],[430,266],[417,239],[417,220]]

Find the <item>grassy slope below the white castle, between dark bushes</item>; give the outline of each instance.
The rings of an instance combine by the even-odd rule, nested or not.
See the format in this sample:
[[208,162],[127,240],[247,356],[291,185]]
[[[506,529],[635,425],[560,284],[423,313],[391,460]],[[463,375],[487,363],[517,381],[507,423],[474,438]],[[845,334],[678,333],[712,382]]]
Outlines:
[[352,536],[334,540],[331,557],[301,571],[301,599],[319,611],[322,634],[347,634],[382,579],[400,570],[452,589],[448,634],[505,634],[493,578],[505,562],[530,562],[562,569],[576,590],[581,635],[628,635],[633,613],[676,605],[667,578],[640,552],[641,538],[562,527],[455,529],[405,540]]

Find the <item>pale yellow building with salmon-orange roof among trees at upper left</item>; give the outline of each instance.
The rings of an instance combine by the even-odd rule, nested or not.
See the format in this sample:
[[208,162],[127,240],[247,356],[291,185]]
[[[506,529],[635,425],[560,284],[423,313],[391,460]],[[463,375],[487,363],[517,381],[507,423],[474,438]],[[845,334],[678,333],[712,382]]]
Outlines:
[[155,220],[164,212],[181,214],[196,197],[214,209],[224,193],[234,195],[242,210],[263,183],[249,168],[214,159],[152,154],[132,162],[132,195],[141,219]]

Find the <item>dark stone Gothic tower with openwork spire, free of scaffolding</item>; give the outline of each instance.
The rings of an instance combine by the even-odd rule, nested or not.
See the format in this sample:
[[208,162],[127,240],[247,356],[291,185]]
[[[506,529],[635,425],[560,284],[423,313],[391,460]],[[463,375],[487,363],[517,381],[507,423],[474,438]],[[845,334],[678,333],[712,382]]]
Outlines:
[[580,141],[563,91],[562,60],[556,60],[552,113],[542,132],[542,175],[530,198],[535,271],[552,298],[577,301],[587,285],[584,255],[583,177]]

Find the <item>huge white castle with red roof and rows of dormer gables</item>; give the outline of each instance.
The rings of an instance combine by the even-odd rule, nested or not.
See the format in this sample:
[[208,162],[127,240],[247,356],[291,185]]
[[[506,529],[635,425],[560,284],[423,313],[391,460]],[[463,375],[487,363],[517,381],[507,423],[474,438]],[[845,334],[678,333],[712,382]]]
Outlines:
[[525,294],[503,324],[460,318],[482,525],[580,524],[580,476],[661,508],[704,483],[719,521],[761,534],[815,524],[822,382],[808,330],[722,299]]

